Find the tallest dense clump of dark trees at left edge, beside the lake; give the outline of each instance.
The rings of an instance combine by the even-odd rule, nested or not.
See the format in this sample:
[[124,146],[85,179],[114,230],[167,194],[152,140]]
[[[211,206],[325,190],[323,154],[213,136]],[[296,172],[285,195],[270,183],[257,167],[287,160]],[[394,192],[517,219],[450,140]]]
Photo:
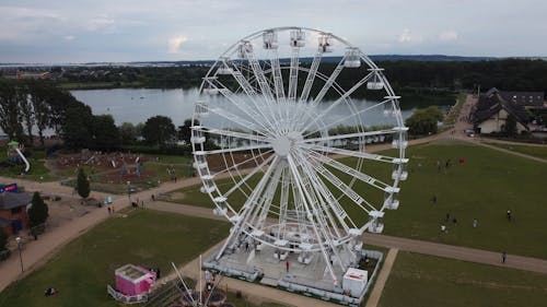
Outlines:
[[36,128],[44,145],[53,129],[69,147],[113,147],[118,131],[109,115],[93,116],[88,105],[69,92],[35,80],[0,79],[0,128],[12,140],[32,145]]

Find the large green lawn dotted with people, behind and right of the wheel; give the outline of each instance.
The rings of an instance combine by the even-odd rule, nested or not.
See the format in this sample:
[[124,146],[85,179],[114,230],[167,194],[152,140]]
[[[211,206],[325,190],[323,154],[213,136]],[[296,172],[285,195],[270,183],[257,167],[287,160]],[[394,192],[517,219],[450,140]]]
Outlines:
[[[547,246],[536,244],[537,238],[547,237],[547,227],[543,227],[547,215],[545,194],[539,192],[546,182],[542,178],[547,165],[458,141],[411,146],[407,156],[409,178],[401,186],[399,209],[386,212],[385,234],[547,259]],[[463,165],[459,158],[465,161]],[[451,166],[445,168],[447,160]],[[363,167],[366,174],[388,180],[389,165],[365,163]],[[350,179],[347,175],[340,177]],[[226,189],[225,182],[219,181],[221,190]],[[382,201],[383,194],[364,184],[358,182],[354,189],[369,201]],[[175,202],[213,205],[199,187],[178,192]],[[336,189],[333,193],[340,194]],[[437,203],[432,202],[434,196]],[[229,199],[236,208],[244,200],[241,192]],[[356,222],[368,220],[346,198],[341,202]],[[512,222],[507,221],[507,210],[512,211]],[[447,213],[450,223],[445,221]],[[478,221],[476,228],[474,219]],[[441,234],[441,224],[447,226],[447,234]]]

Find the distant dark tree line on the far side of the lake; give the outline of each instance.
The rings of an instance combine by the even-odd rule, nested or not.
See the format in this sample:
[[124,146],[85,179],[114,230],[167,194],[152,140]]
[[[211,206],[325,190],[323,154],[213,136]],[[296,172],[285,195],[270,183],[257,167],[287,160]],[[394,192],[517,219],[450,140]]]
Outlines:
[[[383,60],[376,61],[397,92],[429,90],[439,92],[498,87],[507,91],[543,91],[547,93],[547,61],[529,59],[502,59],[484,61],[415,61]],[[329,75],[337,62],[326,62],[319,67],[319,72]],[[302,62],[310,67],[310,62]],[[342,88],[351,87],[360,69],[345,69],[337,78]],[[86,67],[53,68],[50,72],[58,75],[57,83],[106,82],[116,86],[154,88],[177,88],[198,86],[206,75],[207,66],[174,66],[174,67]],[[288,70],[283,70],[283,74]],[[287,82],[288,78],[283,75]],[[299,82],[304,82],[299,78]],[[114,82],[114,83],[113,83]],[[232,85],[230,84],[226,85]],[[114,85],[112,85],[114,84]],[[118,84],[118,85],[116,85]],[[317,91],[314,88],[313,91]],[[358,91],[356,95],[371,95],[371,92]],[[373,95],[373,94],[372,94]]]

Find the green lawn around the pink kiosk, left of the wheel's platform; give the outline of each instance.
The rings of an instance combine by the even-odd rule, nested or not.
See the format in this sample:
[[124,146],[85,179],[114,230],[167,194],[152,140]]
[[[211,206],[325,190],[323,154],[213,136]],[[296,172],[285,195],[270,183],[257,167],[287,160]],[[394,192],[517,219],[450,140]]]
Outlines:
[[[119,306],[106,294],[114,270],[125,263],[171,272],[171,261],[185,263],[228,233],[212,220],[137,210],[109,219],[63,247],[54,259],[0,294],[0,306]],[[60,293],[44,297],[44,290]]]

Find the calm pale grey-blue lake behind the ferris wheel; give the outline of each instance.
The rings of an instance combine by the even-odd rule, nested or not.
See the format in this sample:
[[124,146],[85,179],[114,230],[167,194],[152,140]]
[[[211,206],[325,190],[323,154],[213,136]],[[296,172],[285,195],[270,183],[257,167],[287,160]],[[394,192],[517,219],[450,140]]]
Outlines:
[[[116,125],[123,122],[144,122],[148,118],[162,115],[170,117],[175,126],[182,126],[184,120],[191,118],[194,103],[198,99],[198,88],[190,90],[153,90],[153,88],[114,88],[114,90],[79,90],[70,91],[80,102],[89,105],[94,115],[110,114]],[[213,103],[221,104],[225,99],[216,96]],[[331,102],[330,102],[331,103]],[[375,102],[353,99],[356,109],[373,106]],[[329,106],[324,102],[319,111]],[[414,109],[403,110],[403,118],[408,118]],[[337,120],[351,114],[344,104],[333,108],[326,120]],[[366,126],[386,123],[383,109],[376,108],[365,116]]]

